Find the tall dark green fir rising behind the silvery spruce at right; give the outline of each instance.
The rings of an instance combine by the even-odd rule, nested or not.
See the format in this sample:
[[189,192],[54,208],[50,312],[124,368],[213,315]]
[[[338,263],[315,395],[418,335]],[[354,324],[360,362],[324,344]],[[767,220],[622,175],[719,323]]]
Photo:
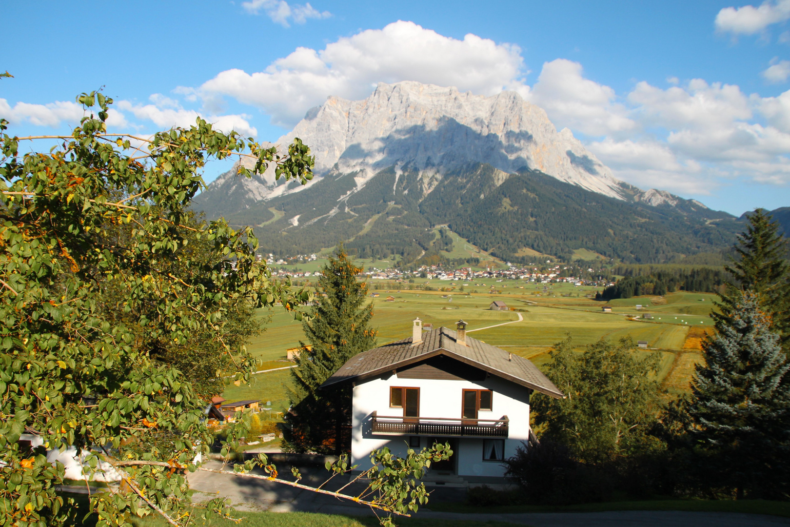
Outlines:
[[721,313],[713,317],[729,324],[740,302],[741,292],[751,290],[762,300],[762,310],[770,315],[773,329],[779,333],[784,352],[790,351],[790,265],[785,259],[787,240],[779,224],[765,209],[748,214],[749,223],[739,235],[734,249],[738,257],[726,269],[734,277],[718,303]]

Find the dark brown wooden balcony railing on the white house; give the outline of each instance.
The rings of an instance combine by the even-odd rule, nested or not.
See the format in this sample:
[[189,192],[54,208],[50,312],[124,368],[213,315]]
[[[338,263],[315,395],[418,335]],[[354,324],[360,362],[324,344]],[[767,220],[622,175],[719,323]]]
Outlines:
[[434,435],[506,438],[507,416],[502,419],[452,419],[446,417],[378,416],[373,412],[373,433],[382,435]]

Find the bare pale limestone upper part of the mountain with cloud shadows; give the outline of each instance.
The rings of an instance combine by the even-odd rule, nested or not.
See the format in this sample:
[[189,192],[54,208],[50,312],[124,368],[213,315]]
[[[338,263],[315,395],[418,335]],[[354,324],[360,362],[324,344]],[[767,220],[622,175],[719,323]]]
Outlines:
[[[425,195],[442,175],[472,163],[491,164],[505,174],[521,168],[539,170],[621,200],[634,201],[643,194],[615,179],[570,130],[558,132],[542,108],[516,92],[476,96],[413,81],[381,83],[365,100],[329,97],[275,144],[285,149],[293,137],[310,145],[316,156],[316,177],[310,184],[330,173],[352,177],[352,194],[378,171],[394,167],[397,173],[418,171]],[[304,188],[276,182],[273,168],[253,179],[228,171],[197,201],[207,211],[230,212]],[[653,194],[646,198],[643,201],[662,201]]]

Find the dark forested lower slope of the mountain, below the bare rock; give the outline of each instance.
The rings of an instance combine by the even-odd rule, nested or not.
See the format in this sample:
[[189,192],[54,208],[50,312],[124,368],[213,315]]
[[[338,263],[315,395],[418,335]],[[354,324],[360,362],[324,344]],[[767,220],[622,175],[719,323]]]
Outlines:
[[405,262],[434,247],[437,225],[511,262],[534,260],[534,251],[570,258],[581,248],[623,262],[668,262],[728,247],[740,228],[734,216],[693,201],[623,201],[539,171],[471,164],[447,173],[424,198],[423,184],[416,171],[393,167],[354,193],[352,177],[326,177],[229,219],[257,226],[265,252],[308,253],[343,240],[362,257],[400,254]]

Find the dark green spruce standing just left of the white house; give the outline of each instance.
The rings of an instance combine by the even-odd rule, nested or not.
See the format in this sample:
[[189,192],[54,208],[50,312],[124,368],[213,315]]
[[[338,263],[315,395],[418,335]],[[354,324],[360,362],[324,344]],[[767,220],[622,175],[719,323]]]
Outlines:
[[318,278],[316,305],[303,322],[308,344],[292,369],[291,410],[285,416],[284,449],[342,454],[351,448],[351,386],[319,386],[348,359],[373,348],[373,305],[367,304],[363,269],[348,259],[341,245]]

